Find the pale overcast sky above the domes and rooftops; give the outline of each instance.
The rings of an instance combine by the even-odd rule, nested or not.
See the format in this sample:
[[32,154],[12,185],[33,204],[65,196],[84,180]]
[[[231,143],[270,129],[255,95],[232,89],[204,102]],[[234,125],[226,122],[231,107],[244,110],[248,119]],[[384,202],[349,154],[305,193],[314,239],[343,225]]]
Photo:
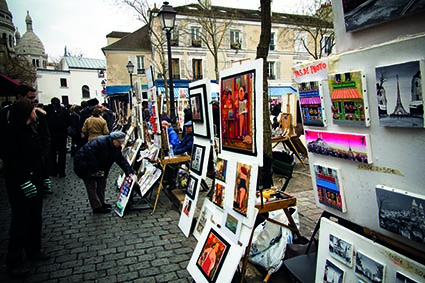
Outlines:
[[[119,0],[6,0],[13,23],[21,36],[26,32],[25,17],[29,11],[33,31],[44,44],[49,61],[64,54],[64,47],[73,54],[103,59],[101,48],[111,31],[133,32],[141,27],[134,10],[114,4]],[[275,0],[272,11],[295,13],[300,2],[317,0]],[[162,1],[149,0],[161,7]],[[170,0],[181,6],[196,0]],[[213,5],[257,9],[260,0],[212,0]]]

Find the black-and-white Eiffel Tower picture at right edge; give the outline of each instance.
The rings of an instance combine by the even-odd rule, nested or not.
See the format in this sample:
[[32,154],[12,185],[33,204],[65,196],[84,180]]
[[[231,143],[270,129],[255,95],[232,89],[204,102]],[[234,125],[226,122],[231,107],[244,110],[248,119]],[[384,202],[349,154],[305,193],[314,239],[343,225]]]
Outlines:
[[375,68],[379,125],[424,127],[420,62]]

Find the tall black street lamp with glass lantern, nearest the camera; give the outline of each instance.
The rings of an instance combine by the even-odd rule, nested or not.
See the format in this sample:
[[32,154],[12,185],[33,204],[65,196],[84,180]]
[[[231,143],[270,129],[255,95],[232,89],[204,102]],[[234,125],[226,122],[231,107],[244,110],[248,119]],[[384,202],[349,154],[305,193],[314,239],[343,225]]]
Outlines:
[[173,128],[176,127],[176,110],[174,104],[174,86],[173,86],[173,72],[172,72],[172,59],[171,59],[171,31],[174,29],[177,12],[172,6],[168,5],[165,1],[158,13],[158,17],[161,21],[162,30],[165,30],[167,36],[167,50],[168,50],[168,81],[169,81],[169,92],[170,92],[170,119]]

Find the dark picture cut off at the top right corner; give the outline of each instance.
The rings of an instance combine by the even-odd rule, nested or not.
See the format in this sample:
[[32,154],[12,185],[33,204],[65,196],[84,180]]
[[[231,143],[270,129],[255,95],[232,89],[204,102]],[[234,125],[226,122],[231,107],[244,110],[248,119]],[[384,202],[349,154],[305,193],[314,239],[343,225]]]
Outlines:
[[346,31],[393,20],[425,10],[425,0],[367,1],[342,0]]

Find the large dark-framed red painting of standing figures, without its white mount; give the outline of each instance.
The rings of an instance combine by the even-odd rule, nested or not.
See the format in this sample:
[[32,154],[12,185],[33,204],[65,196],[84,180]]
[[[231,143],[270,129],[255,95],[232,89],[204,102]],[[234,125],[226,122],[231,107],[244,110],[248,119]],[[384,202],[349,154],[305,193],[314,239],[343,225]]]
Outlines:
[[222,149],[256,155],[255,70],[222,78],[220,92]]

